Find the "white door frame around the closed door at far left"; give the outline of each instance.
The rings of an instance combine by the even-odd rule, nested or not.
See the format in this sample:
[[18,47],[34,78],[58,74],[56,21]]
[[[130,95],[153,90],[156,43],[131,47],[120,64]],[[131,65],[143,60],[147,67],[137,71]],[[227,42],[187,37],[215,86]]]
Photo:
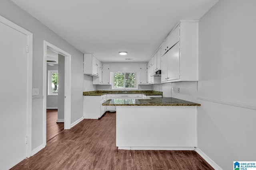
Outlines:
[[33,33],[20,27],[16,23],[0,16],[0,22],[27,36],[27,146],[26,156],[30,157],[32,150],[32,57],[33,57]]

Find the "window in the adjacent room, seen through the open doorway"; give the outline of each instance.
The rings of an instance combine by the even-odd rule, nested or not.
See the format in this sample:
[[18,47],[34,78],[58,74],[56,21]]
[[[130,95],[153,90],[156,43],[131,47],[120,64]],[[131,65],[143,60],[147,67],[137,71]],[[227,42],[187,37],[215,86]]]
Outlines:
[[58,95],[58,70],[48,70],[48,95]]

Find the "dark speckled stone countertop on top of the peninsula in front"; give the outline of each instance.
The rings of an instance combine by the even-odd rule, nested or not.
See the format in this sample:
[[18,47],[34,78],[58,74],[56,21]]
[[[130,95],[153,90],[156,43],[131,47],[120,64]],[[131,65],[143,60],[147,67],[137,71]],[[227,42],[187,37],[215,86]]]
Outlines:
[[102,106],[201,106],[200,104],[176,98],[110,99]]

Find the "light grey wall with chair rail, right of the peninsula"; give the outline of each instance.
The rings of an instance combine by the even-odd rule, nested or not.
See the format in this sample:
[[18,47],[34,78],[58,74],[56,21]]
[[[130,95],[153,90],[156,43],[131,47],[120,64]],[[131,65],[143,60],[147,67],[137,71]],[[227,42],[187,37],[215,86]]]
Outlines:
[[199,21],[198,147],[224,170],[256,158],[255,9],[220,0]]

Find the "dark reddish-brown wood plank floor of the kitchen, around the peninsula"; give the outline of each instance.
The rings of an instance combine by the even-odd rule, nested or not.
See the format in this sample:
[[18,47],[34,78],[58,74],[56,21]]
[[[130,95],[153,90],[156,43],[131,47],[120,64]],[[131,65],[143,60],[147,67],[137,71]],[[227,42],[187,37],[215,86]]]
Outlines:
[[84,119],[12,170],[213,170],[195,151],[118,150],[116,114]]

